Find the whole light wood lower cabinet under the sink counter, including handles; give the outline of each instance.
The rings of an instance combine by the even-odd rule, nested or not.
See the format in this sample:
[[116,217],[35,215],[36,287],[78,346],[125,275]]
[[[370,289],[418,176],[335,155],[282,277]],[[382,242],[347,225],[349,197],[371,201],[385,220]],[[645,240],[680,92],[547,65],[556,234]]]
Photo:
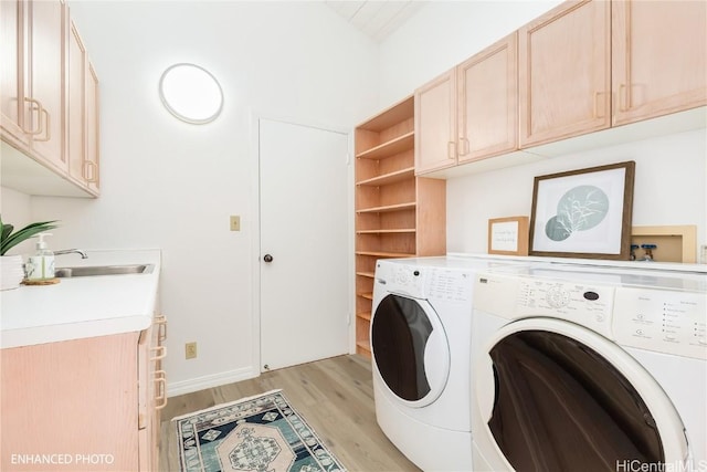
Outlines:
[[0,470],[157,471],[165,333],[2,349]]

